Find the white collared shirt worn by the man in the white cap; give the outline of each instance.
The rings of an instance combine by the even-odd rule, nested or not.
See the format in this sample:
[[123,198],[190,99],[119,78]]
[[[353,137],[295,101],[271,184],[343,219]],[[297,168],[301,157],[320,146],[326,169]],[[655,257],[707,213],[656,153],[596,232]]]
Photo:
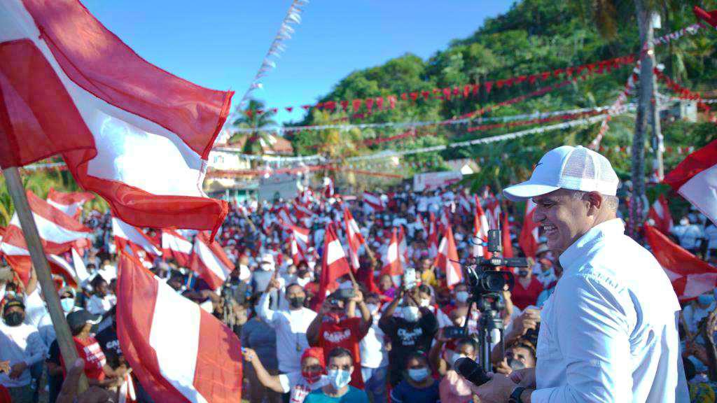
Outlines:
[[655,257],[624,232],[609,220],[560,256],[531,402],[690,401],[677,297]]

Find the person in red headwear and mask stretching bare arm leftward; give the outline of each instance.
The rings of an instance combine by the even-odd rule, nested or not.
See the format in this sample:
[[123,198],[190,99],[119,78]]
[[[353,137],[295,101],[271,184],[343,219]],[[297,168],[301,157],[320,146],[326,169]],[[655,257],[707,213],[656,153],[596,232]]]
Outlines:
[[[253,349],[242,348],[244,360],[249,362],[256,374],[256,381],[260,386],[274,393],[289,394],[289,402],[303,403],[308,394],[328,384],[326,377],[326,365],[323,361],[323,350],[318,347],[306,349],[301,355],[301,371],[289,374],[270,374],[259,359],[257,352]],[[261,397],[255,397],[254,385],[252,384],[250,402],[262,402]]]

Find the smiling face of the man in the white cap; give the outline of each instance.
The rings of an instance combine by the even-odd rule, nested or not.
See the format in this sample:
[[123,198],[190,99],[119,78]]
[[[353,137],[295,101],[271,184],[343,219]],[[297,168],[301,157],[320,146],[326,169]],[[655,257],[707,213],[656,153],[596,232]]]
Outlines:
[[543,227],[548,247],[561,253],[590,229],[589,202],[565,189],[533,197],[533,221]]

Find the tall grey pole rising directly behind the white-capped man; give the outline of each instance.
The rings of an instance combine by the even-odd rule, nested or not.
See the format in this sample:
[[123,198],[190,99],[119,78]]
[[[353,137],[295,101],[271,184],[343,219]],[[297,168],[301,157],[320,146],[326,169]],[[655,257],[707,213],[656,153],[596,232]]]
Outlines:
[[[647,116],[657,108],[652,108],[652,95],[655,77],[655,49],[652,44],[652,12],[647,0],[635,0],[635,12],[640,29],[640,93],[637,102],[637,118],[635,118],[635,135],[632,136],[632,202],[630,203],[630,236],[637,236],[637,229],[642,224],[642,206],[645,194],[645,133],[647,132]],[[657,119],[659,125],[659,117]]]

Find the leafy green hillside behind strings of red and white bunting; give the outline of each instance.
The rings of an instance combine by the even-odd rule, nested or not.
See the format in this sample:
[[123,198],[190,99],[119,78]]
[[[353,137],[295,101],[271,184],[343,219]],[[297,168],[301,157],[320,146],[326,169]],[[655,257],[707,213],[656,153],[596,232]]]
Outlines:
[[[588,4],[617,4],[614,9],[591,9]],[[717,8],[717,1],[656,1],[662,4],[663,28],[659,36],[695,22],[691,12],[693,4],[706,9]],[[614,16],[614,18],[612,16]],[[657,62],[665,65],[665,74],[683,86],[693,90],[717,88],[717,60],[714,51],[716,34],[703,30],[693,37],[684,37],[669,46],[657,48]],[[447,49],[436,52],[428,60],[413,54],[404,54],[384,65],[352,72],[336,84],[331,93],[320,99],[352,100],[354,98],[386,97],[407,92],[432,90],[435,87],[481,84],[495,82],[518,75],[584,65],[632,54],[640,48],[635,9],[632,1],[552,1],[523,0],[516,2],[504,15],[487,19],[473,35],[456,39]],[[595,75],[588,80],[578,80],[571,85],[546,95],[530,98],[525,102],[504,106],[484,116],[515,115],[536,111],[566,110],[610,105],[625,86],[632,67],[625,66],[608,74]],[[502,100],[531,93],[543,85],[559,82],[521,82],[511,87],[497,88],[490,94],[481,85],[477,97],[453,97],[450,101],[422,100],[416,102],[399,100],[396,108],[375,110],[370,115],[356,118],[346,113],[328,113],[313,110],[298,125],[316,125],[336,122],[382,123],[389,121],[445,120],[500,103]],[[670,95],[663,86],[660,91]],[[427,129],[427,136],[407,138],[401,143],[391,142],[366,147],[363,141],[378,136],[386,137],[401,133],[400,129],[379,128],[339,131],[303,131],[291,140],[300,153],[318,151],[331,156],[352,156],[373,153],[386,148],[410,149],[472,138],[495,136],[495,134],[531,128],[497,128],[469,133],[466,125],[444,125]],[[483,161],[481,181],[498,179],[500,183],[514,181],[526,176],[531,169],[528,161],[544,150],[564,143],[587,144],[597,134],[599,123],[563,131],[535,134],[513,141],[491,143],[487,146],[454,148],[434,154],[406,156],[406,161],[441,161],[451,158],[480,158]],[[617,169],[629,171],[627,153],[614,152],[614,146],[630,146],[634,130],[634,116],[614,118],[602,144]],[[421,133],[421,134],[426,134]],[[675,123],[663,128],[668,146],[699,146],[717,138],[715,125],[711,123]],[[648,161],[652,158],[647,155]],[[683,156],[665,156],[667,168]],[[407,172],[410,173],[410,172]],[[479,178],[480,179],[480,178]],[[500,184],[499,183],[499,184]]]

